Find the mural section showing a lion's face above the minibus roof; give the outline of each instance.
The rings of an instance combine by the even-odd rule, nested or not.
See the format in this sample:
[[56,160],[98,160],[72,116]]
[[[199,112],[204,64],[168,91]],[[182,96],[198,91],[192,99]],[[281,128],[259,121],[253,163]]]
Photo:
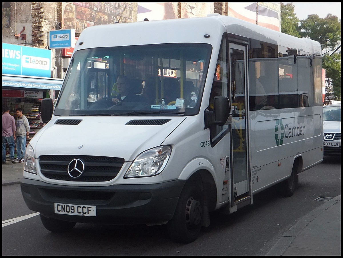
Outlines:
[[[180,3],[138,3],[137,21],[147,18],[152,20],[176,19]],[[214,13],[214,2],[210,3],[181,3],[181,18],[204,17]]]

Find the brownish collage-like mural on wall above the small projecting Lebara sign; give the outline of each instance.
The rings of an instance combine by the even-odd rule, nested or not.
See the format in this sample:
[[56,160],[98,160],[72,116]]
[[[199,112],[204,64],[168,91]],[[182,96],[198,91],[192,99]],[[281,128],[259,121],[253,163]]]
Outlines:
[[62,29],[80,34],[86,27],[115,22],[132,22],[133,3],[66,2],[62,3]]

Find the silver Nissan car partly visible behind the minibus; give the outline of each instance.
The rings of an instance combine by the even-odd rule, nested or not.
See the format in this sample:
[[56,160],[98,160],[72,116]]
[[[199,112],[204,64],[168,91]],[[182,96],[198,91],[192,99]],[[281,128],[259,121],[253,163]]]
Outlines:
[[324,155],[341,156],[341,104],[323,107]]

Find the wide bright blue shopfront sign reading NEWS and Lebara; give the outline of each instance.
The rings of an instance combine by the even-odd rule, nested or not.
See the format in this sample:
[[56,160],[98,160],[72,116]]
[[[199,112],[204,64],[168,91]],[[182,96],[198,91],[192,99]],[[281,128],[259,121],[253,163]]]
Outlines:
[[2,73],[51,77],[51,50],[2,43]]

